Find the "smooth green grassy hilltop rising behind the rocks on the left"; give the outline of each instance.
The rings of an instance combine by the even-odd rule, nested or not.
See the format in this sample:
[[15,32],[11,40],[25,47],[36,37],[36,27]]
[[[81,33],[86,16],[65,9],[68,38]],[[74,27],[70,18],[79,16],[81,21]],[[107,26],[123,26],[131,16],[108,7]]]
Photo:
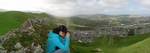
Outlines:
[[19,11],[0,12],[0,35],[19,27],[28,18],[48,17],[46,13],[31,13]]

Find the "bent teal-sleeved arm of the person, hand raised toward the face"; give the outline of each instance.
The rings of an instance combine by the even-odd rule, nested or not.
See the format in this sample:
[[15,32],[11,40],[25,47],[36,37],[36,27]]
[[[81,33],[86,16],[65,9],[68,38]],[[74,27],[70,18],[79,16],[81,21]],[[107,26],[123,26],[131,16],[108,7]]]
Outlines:
[[53,43],[60,49],[67,51],[69,49],[70,38],[68,36],[65,37],[65,43],[63,44],[59,38],[53,38]]

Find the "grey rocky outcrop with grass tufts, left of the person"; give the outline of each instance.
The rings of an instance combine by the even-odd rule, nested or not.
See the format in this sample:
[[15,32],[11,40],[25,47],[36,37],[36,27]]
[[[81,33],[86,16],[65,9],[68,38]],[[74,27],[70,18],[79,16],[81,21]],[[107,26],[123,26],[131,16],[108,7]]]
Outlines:
[[28,19],[17,29],[0,37],[0,53],[44,53],[49,18]]

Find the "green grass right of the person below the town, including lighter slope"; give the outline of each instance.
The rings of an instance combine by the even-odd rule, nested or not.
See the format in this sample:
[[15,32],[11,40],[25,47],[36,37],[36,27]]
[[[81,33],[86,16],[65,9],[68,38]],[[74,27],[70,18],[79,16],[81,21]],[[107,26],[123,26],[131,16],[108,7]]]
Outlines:
[[73,53],[93,53],[101,48],[104,53],[150,53],[150,34],[129,36],[127,38],[101,37],[91,44],[72,42]]

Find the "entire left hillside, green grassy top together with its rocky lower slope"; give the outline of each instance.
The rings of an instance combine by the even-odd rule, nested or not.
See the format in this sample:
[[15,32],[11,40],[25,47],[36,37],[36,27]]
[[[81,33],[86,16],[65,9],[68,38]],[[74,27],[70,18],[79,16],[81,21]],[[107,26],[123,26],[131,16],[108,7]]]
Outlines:
[[[54,17],[46,13],[0,12],[0,53],[45,51],[48,31],[55,26],[53,21]],[[17,43],[21,44],[22,49],[15,48]],[[38,47],[37,45],[40,46],[40,50],[32,48]]]

